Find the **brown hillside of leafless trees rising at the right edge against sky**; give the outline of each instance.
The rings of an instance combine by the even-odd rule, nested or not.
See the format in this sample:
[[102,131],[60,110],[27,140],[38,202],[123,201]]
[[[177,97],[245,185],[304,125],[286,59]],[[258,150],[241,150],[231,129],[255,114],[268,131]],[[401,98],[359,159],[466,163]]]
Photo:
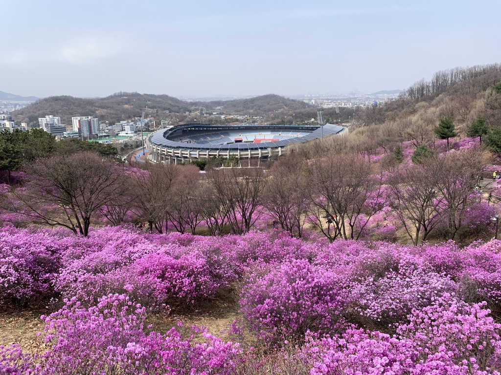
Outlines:
[[430,80],[421,79],[400,93],[397,100],[374,103],[358,116],[359,125],[407,124],[423,129],[439,118],[450,117],[467,127],[478,116],[492,127],[501,125],[501,101],[492,91],[501,82],[501,64],[440,70]]

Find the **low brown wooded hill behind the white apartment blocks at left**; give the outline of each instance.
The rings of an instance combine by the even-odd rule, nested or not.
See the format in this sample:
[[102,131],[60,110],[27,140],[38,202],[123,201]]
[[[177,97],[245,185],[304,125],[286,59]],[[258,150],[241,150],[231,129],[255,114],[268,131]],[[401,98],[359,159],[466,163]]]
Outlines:
[[178,98],[168,95],[118,92],[103,98],[83,99],[73,96],[50,96],[13,111],[19,121],[38,122],[38,117],[48,114],[60,116],[61,121],[71,123],[73,116],[94,116],[100,120],[116,122],[132,117],[147,116],[166,118],[168,113],[184,113],[189,108]]

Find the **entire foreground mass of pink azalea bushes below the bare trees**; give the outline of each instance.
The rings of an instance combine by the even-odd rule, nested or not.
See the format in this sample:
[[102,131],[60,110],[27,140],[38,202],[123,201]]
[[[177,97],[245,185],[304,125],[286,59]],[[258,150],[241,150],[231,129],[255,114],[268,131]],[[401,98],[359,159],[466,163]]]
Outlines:
[[144,326],[151,310],[190,308],[233,289],[242,316],[233,332],[243,343],[250,334],[312,374],[496,374],[500,249],[499,240],[407,246],[132,227],[94,228],[83,238],[4,226],[0,304],[65,305],[44,317],[47,351],[2,346],[0,373],[244,371],[239,358],[254,354],[203,329]]

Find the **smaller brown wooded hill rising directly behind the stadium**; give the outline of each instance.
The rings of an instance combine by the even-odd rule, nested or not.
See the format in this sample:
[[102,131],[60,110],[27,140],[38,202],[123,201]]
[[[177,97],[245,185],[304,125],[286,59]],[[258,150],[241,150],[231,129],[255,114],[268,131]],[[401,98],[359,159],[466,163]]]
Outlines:
[[217,107],[222,107],[221,111],[225,114],[238,113],[255,116],[282,110],[300,110],[311,106],[303,101],[288,99],[284,96],[275,94],[255,96],[247,99],[196,101],[192,104],[213,110]]

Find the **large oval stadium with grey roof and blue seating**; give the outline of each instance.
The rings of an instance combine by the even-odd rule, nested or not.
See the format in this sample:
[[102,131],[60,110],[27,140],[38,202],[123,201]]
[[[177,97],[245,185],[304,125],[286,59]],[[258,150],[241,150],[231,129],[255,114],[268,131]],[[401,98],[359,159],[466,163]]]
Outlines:
[[154,162],[182,163],[211,157],[259,157],[282,155],[284,147],[305,143],[348,129],[334,124],[299,125],[213,125],[188,123],[155,131],[147,139],[149,158]]

